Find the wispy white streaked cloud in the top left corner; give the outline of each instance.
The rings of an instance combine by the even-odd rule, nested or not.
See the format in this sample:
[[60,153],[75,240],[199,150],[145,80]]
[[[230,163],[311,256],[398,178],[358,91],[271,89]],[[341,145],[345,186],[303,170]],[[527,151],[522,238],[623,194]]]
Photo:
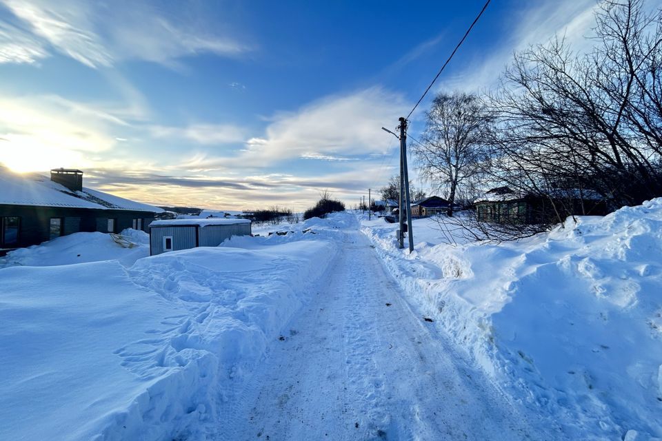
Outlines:
[[[30,30],[0,28],[0,62],[26,63],[46,57],[46,44],[91,68],[124,59],[140,59],[177,67],[177,59],[199,53],[237,56],[248,45],[214,32],[204,32],[199,19],[187,19],[186,6],[172,3],[165,12],[150,3],[83,0],[0,0]],[[9,37],[3,36],[9,34]],[[3,49],[4,48],[4,49]],[[5,56],[3,57],[3,54]]]

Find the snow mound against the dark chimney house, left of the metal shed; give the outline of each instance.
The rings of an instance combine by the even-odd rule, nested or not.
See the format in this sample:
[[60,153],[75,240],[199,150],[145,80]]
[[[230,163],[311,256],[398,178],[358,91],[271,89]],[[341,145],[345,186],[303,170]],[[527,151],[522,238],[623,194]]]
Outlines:
[[125,229],[121,235],[136,246],[124,248],[115,243],[110,234],[74,233],[54,238],[41,245],[15,249],[7,256],[0,257],[0,268],[19,265],[28,267],[72,265],[100,260],[118,260],[123,266],[128,267],[139,258],[150,255],[149,234],[135,229]]

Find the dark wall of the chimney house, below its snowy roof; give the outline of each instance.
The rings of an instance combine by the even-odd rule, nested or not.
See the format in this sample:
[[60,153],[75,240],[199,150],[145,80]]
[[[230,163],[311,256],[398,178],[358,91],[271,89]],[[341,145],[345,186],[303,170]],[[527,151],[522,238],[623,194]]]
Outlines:
[[17,245],[2,243],[2,232],[0,231],[0,248],[28,247],[50,240],[51,218],[61,218],[63,220],[61,228],[61,235],[63,236],[77,232],[98,231],[108,233],[108,218],[115,219],[115,233],[119,233],[126,228],[132,228],[133,220],[136,218],[143,219],[142,229],[148,232],[148,225],[154,220],[154,213],[152,212],[0,205],[0,218],[14,216],[20,218],[19,241]]

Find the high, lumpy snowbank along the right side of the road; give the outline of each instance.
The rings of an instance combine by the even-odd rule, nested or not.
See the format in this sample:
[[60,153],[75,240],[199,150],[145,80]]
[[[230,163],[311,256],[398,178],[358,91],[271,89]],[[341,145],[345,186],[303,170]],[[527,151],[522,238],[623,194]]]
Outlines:
[[397,225],[362,225],[426,314],[568,439],[662,437],[662,198],[501,245],[444,245],[415,220],[411,255]]

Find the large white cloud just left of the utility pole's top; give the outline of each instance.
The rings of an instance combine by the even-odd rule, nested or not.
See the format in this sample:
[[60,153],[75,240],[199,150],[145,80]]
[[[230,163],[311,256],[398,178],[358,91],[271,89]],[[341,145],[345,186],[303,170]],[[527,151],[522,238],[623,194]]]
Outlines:
[[265,136],[250,139],[246,158],[272,163],[285,158],[384,152],[388,139],[381,127],[396,125],[406,104],[383,88],[328,96],[297,112],[278,114]]

